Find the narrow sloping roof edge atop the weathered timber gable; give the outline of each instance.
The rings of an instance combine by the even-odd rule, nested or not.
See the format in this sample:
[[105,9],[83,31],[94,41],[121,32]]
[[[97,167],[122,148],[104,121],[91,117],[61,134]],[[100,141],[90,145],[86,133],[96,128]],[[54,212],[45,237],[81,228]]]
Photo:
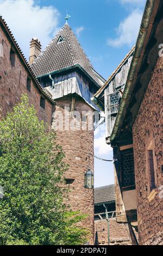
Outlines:
[[108,87],[108,84],[110,83],[110,81],[112,80],[112,78],[114,78],[114,76],[117,74],[118,70],[120,70],[122,68],[122,66],[124,65],[124,63],[126,63],[127,59],[134,53],[135,51],[135,46],[133,48],[131,48],[131,50],[129,51],[129,53],[124,57],[124,59],[122,59],[122,62],[117,66],[117,68],[114,70],[114,72],[112,72],[111,76],[109,76],[108,80],[106,80],[106,82],[104,83],[104,85],[99,88],[99,90],[96,92],[96,94],[94,95],[94,97],[98,98],[99,96],[102,95],[102,93],[104,92],[104,90]]

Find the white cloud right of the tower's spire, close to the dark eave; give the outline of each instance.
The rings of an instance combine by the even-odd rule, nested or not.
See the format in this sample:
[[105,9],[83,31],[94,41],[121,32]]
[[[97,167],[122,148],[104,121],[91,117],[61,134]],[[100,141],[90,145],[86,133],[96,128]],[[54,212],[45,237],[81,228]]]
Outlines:
[[123,45],[133,46],[139,33],[141,20],[142,11],[140,9],[133,10],[116,29],[117,38],[109,38],[107,44],[113,47],[121,47]]

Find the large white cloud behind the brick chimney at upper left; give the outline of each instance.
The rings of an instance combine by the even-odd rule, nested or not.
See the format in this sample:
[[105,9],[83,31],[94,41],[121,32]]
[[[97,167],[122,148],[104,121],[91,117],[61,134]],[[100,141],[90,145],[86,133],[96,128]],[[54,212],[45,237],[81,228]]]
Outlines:
[[60,14],[53,6],[40,7],[35,0],[0,0],[0,11],[27,58],[33,36],[43,49],[58,31]]

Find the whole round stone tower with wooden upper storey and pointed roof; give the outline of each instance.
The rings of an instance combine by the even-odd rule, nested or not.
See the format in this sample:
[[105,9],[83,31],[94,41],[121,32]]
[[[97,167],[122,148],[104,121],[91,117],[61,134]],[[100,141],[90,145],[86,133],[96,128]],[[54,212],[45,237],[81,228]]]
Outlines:
[[[87,214],[82,223],[94,242],[93,115],[99,111],[91,97],[104,79],[93,69],[71,27],[66,23],[32,64],[41,86],[57,103],[52,127],[65,151],[69,169],[65,181],[70,187],[68,203],[74,211]],[[87,175],[86,175],[87,173]]]

